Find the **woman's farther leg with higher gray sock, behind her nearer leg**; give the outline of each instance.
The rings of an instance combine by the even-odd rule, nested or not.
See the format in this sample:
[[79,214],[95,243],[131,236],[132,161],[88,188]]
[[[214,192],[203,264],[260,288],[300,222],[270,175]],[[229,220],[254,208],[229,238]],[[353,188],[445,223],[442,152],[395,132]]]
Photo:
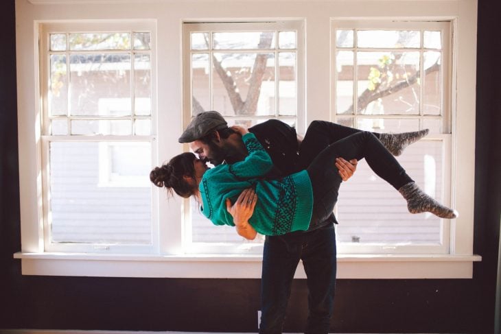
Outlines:
[[[362,130],[340,126],[328,121],[312,121],[305,138],[299,146],[299,168],[306,169],[313,159],[322,152],[325,147],[336,143],[340,139],[346,138],[351,134],[362,132]],[[428,129],[416,132],[403,132],[399,134],[376,133],[372,132],[377,139],[395,156],[399,156],[411,143],[418,141],[428,134]],[[346,158],[346,157],[343,157]]]

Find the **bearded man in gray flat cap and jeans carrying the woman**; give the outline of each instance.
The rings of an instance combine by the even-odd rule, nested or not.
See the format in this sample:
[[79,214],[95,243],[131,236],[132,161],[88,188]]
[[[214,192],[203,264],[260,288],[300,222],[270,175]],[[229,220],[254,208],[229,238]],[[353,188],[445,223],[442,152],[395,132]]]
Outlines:
[[[270,120],[248,129],[270,154],[275,168],[269,178],[297,171],[301,139],[286,123]],[[247,155],[239,134],[228,128],[215,111],[198,114],[179,138],[189,143],[199,158],[213,165],[235,163]],[[356,169],[356,160],[342,159],[340,176],[347,180]],[[238,211],[237,204],[233,207]],[[252,213],[250,213],[251,215]],[[331,215],[315,230],[266,237],[261,273],[261,326],[259,333],[281,333],[294,272],[303,260],[309,289],[309,315],[305,333],[327,333],[334,302],[336,280],[336,219]]]

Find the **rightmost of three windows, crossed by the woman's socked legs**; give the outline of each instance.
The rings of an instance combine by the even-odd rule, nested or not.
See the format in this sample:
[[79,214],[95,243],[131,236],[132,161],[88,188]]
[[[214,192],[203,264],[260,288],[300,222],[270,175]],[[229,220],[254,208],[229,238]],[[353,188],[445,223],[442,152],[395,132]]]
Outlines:
[[[450,205],[450,22],[334,22],[336,121],[372,132],[429,128],[397,157],[419,186]],[[361,205],[363,203],[363,205]],[[337,206],[339,251],[448,253],[450,223],[409,215],[362,161]]]

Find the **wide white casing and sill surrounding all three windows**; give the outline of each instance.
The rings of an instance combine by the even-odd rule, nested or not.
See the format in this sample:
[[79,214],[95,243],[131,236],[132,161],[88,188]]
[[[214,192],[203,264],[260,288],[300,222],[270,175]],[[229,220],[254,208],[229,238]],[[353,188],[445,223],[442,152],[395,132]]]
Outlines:
[[[474,261],[474,144],[476,89],[477,0],[393,1],[299,1],[293,6],[281,0],[248,3],[242,16],[242,2],[213,3],[195,0],[91,0],[16,1],[16,66],[19,128],[19,171],[21,194],[21,259],[23,274],[56,276],[128,276],[193,278],[259,278],[261,256],[253,254],[187,254],[183,249],[183,202],[174,198],[165,204],[165,193],[153,189],[153,206],[159,228],[158,252],[118,254],[102,250],[91,253],[47,252],[43,245],[43,206],[40,195],[41,115],[38,61],[40,23],[91,21],[148,21],[156,25],[156,53],[160,61],[152,70],[157,84],[154,102],[159,112],[153,117],[154,156],[183,152],[177,143],[185,126],[183,119],[182,23],[188,21],[276,21],[283,18],[305,21],[305,124],[314,119],[334,121],[331,109],[331,25],[340,20],[394,19],[396,21],[451,21],[452,40],[452,165],[451,202],[461,212],[452,222],[450,254],[340,254],[338,278],[471,278]],[[117,10],[119,6],[120,10]],[[124,18],[124,16],[127,16]],[[270,19],[275,18],[275,19]],[[84,22],[83,21],[83,22]],[[152,106],[154,109],[155,107]],[[162,160],[160,160],[162,159]],[[161,203],[161,205],[159,204]],[[175,224],[170,224],[175,222]],[[300,265],[297,278],[304,278]]]

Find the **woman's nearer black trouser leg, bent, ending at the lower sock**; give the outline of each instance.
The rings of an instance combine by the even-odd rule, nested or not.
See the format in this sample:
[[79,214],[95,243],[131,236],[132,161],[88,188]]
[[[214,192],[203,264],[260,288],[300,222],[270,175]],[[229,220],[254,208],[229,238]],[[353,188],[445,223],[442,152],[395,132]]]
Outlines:
[[320,224],[334,210],[342,182],[338,169],[334,165],[338,157],[346,160],[365,158],[375,174],[397,190],[404,184],[412,182],[405,169],[374,134],[366,131],[351,134],[326,147],[307,168],[313,190],[313,212],[310,224]]

